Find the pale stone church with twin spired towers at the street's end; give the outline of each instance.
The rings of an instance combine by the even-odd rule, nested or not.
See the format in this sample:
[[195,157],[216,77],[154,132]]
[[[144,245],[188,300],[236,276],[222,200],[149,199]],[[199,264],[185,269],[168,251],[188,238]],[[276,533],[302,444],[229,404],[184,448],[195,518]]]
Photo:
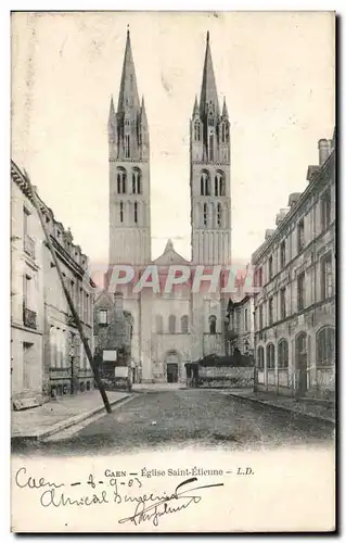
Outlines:
[[[210,270],[230,264],[230,122],[226,100],[222,109],[218,100],[209,34],[200,100],[193,104],[192,99],[188,122],[192,257],[183,258],[168,240],[164,253],[153,261],[150,119],[138,92],[128,30],[117,108],[112,98],[108,117],[110,269],[127,264],[140,273],[156,265],[162,279],[174,265],[204,265]],[[187,362],[225,354],[228,299],[220,288],[213,294],[192,292],[188,283],[168,294],[148,289],[123,292],[124,308],[133,323],[131,355],[141,366],[143,382],[183,381]]]

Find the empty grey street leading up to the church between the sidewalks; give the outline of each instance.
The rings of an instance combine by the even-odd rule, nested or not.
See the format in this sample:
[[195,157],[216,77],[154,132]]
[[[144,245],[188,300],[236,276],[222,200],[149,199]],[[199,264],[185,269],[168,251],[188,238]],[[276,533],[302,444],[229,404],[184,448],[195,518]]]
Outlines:
[[77,433],[48,442],[17,444],[13,453],[114,454],[144,449],[196,446],[264,450],[326,445],[334,429],[319,420],[241,401],[212,390],[133,393],[128,403],[89,422]]

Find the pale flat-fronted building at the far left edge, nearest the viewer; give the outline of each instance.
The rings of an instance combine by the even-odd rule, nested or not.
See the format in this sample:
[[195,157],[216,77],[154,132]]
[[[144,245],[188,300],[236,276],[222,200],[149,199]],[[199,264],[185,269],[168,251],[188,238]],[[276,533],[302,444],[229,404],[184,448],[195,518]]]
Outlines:
[[11,400],[43,400],[43,232],[25,176],[11,162]]

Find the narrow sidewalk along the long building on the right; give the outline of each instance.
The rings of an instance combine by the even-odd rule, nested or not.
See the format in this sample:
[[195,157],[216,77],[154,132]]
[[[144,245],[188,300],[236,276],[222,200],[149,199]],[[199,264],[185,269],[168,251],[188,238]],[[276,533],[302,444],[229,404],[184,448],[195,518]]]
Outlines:
[[254,392],[252,389],[234,389],[232,391],[222,391],[222,394],[230,394],[248,402],[255,402],[268,405],[281,411],[297,413],[303,416],[317,418],[324,422],[335,425],[335,405],[322,403],[319,401],[296,400],[294,397],[278,396],[267,392]]

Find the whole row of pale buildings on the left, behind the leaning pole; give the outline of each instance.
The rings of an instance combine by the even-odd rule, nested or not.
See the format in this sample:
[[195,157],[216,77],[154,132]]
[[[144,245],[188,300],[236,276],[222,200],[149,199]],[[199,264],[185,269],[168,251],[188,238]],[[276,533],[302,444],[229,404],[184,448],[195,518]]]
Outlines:
[[[29,198],[26,177],[11,162],[12,395],[51,396],[93,389],[93,374]],[[94,285],[88,257],[69,229],[39,199],[56,257],[93,351]]]

